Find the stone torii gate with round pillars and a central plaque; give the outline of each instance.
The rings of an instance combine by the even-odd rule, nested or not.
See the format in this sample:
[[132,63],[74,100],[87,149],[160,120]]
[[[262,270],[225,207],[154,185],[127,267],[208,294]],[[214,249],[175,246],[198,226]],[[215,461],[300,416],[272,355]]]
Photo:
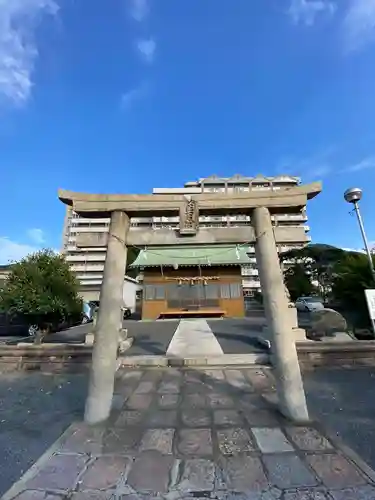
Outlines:
[[[303,227],[273,226],[271,214],[302,211],[321,191],[312,183],[275,191],[194,195],[85,194],[59,190],[59,199],[81,217],[110,217],[108,233],[81,234],[78,247],[107,247],[100,310],[95,330],[85,420],[95,424],[110,414],[116,373],[119,318],[127,246],[254,243],[264,307],[272,335],[280,410],[294,421],[309,419],[290,309],[277,253],[277,243],[306,241]],[[250,215],[252,226],[199,227],[199,215]],[[178,230],[132,230],[131,217],[179,215]]]

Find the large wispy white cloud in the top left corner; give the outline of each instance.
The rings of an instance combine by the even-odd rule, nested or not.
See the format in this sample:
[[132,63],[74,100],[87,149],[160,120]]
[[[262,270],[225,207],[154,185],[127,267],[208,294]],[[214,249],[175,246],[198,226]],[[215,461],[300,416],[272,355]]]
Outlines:
[[15,105],[31,94],[38,22],[57,11],[54,0],[0,0],[0,95]]

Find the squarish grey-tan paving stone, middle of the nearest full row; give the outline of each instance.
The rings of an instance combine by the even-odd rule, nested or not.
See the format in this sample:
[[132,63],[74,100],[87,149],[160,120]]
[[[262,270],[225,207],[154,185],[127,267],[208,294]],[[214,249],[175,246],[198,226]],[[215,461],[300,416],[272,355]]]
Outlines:
[[[181,480],[177,484],[182,494],[212,491],[215,483],[215,465],[202,458],[185,460],[182,465]],[[196,497],[197,495],[194,495]]]

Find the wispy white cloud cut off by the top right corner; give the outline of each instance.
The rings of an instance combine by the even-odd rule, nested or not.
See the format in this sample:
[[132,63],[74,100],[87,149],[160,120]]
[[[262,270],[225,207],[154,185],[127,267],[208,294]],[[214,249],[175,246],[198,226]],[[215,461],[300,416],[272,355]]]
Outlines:
[[350,0],[343,36],[346,52],[361,49],[375,40],[375,0]]

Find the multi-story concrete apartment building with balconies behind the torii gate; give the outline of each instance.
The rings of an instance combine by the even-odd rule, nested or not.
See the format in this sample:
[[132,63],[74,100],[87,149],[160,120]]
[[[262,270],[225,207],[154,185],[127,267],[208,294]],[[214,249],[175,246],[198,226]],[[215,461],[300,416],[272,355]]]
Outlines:
[[[192,195],[201,192],[244,192],[251,190],[280,190],[288,189],[297,186],[300,183],[298,177],[288,175],[280,175],[277,177],[265,177],[258,175],[256,177],[244,177],[235,175],[233,177],[217,177],[211,176],[199,179],[198,181],[187,182],[184,187],[180,188],[155,188],[153,194],[186,194]],[[279,245],[279,251],[284,252],[292,248],[303,247],[310,241],[307,235],[309,226],[306,225],[307,215],[304,210],[302,213],[296,214],[279,214],[272,216],[275,226],[290,227],[290,234],[295,231],[296,240],[288,244]],[[178,217],[150,217],[150,218],[133,218],[131,227],[133,230],[137,228],[152,227],[157,231],[160,228],[177,228],[179,223]],[[225,216],[200,216],[199,225],[201,227],[234,227],[250,225],[250,216],[248,215],[228,215]],[[66,254],[68,262],[70,262],[72,270],[76,273],[79,279],[82,292],[85,296],[97,294],[100,289],[103,279],[103,268],[106,255],[106,248],[77,248],[76,236],[83,232],[106,232],[109,227],[109,219],[87,219],[78,217],[71,209],[67,208],[64,235],[63,235],[63,252]],[[301,239],[300,228],[304,227],[305,236]],[[293,238],[292,238],[293,240]],[[250,256],[250,263],[242,267],[242,285],[245,295],[252,295],[254,291],[260,289],[258,270],[255,259],[255,250],[253,245],[247,247],[247,252]]]

